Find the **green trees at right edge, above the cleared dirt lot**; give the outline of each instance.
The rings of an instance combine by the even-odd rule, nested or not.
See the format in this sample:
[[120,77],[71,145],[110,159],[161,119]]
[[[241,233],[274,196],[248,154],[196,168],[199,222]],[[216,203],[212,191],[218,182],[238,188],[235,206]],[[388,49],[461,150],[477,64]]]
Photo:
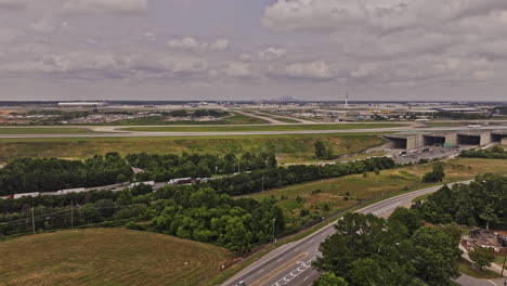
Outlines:
[[431,223],[507,229],[507,177],[478,176],[470,184],[444,186],[414,208]]

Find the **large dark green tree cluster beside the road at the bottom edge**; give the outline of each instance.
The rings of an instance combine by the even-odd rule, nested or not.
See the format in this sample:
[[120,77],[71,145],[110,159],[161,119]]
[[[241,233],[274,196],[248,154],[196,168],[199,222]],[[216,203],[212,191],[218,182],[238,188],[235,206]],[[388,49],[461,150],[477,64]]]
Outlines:
[[353,286],[450,285],[458,275],[459,238],[444,227],[421,226],[414,216],[346,214],[321,244],[314,266]]

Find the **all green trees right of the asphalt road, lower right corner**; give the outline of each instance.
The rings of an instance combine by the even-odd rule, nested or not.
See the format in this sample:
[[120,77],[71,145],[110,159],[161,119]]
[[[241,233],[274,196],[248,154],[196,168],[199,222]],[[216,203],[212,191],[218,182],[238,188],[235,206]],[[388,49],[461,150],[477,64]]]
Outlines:
[[[387,220],[346,214],[336,234],[320,246],[322,257],[314,266],[325,274],[314,285],[453,285],[461,256],[458,224],[505,230],[505,206],[507,177],[483,174],[469,185],[443,186],[411,209],[395,209]],[[479,266],[494,259],[481,248],[470,255]]]

